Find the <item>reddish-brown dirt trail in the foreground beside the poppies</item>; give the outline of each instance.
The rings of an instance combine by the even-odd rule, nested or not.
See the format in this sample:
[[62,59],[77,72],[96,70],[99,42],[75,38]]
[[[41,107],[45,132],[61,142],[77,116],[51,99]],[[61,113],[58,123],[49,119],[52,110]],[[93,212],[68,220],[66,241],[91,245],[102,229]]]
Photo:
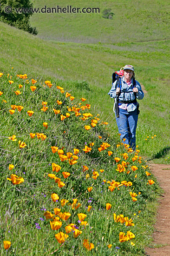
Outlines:
[[147,256],[170,256],[170,165],[150,164],[152,173],[163,189],[163,197],[157,211],[153,247],[145,248]]

